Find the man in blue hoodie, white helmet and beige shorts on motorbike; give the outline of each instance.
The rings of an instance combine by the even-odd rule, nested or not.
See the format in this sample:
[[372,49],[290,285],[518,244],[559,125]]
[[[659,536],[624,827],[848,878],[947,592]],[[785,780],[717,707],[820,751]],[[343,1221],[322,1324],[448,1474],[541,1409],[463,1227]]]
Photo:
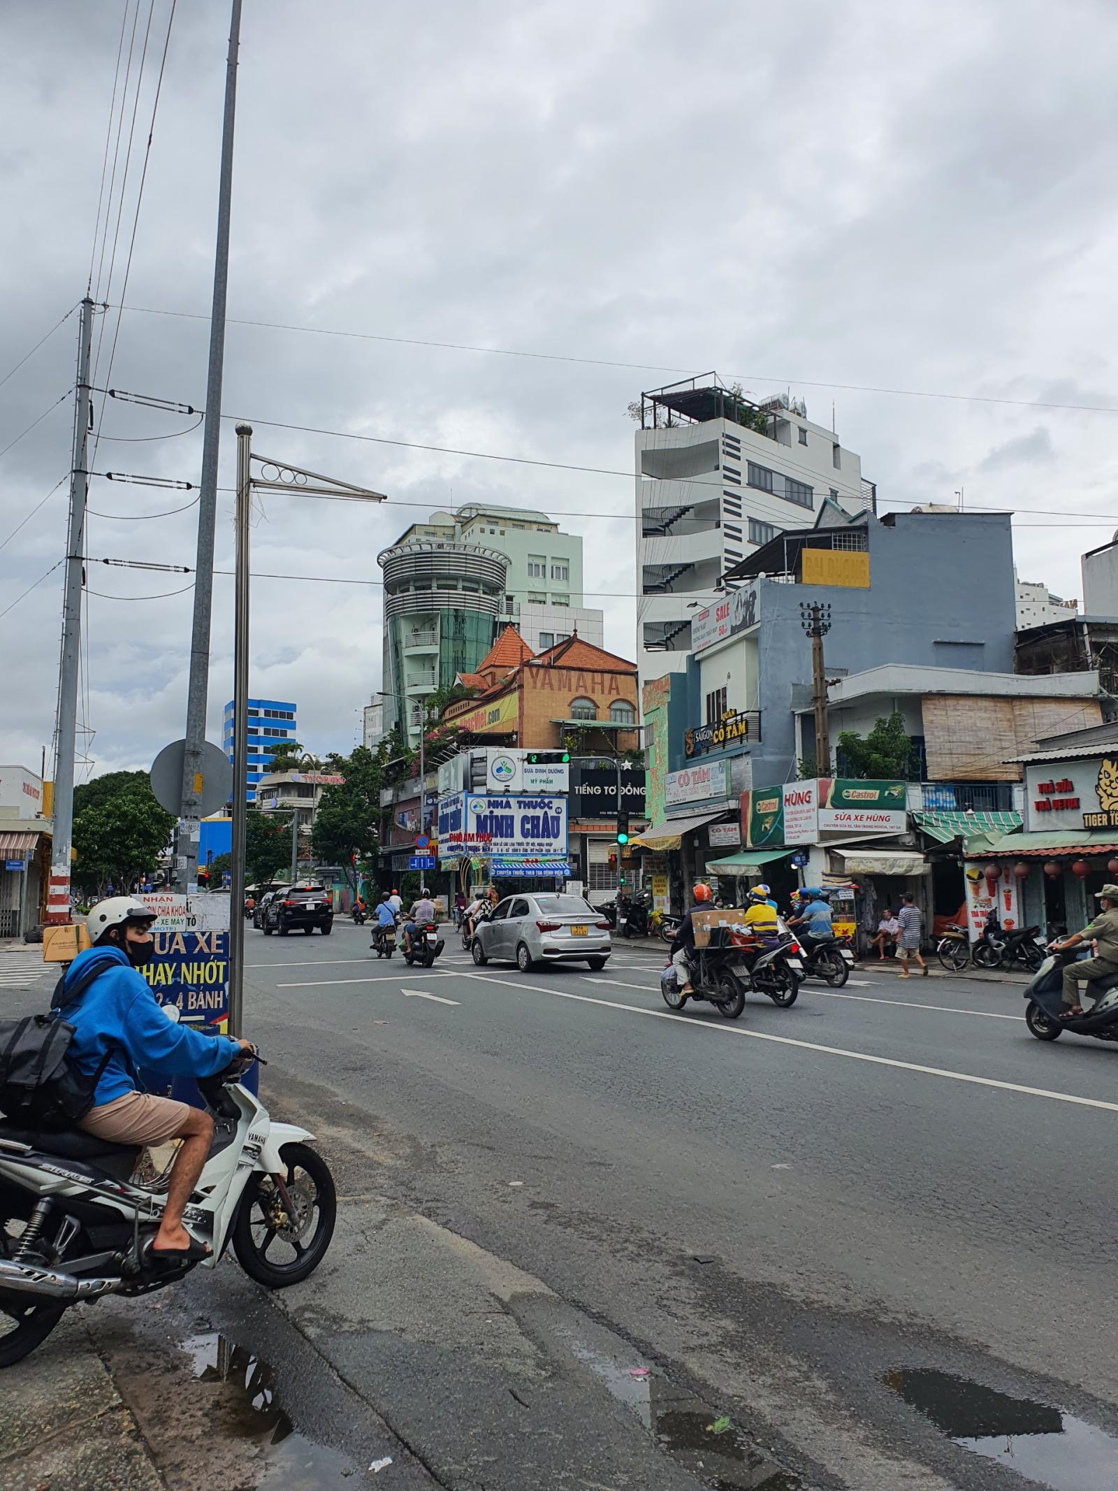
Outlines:
[[[213,1077],[240,1056],[249,1041],[206,1036],[174,1024],[160,1008],[151,986],[137,974],[155,951],[151,908],[134,896],[101,901],[86,917],[92,947],[70,965],[57,1003],[75,1027],[70,1059],[92,1078],[100,1077],[92,1108],[79,1127],[110,1144],[164,1144],[182,1139],[167,1187],[167,1205],[151,1249],[160,1257],[197,1258],[204,1251],[182,1224],[182,1214],[209,1159],[213,1120],[201,1108],[139,1091],[139,1069],[174,1077]],[[106,966],[80,1000],[66,1005],[66,987],[95,959]]]

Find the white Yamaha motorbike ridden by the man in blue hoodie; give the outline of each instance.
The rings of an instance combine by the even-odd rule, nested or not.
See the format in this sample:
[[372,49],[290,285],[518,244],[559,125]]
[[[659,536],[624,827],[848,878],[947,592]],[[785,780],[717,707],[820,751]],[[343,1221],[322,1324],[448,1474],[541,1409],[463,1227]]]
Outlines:
[[198,1079],[213,1145],[183,1226],[209,1245],[201,1260],[149,1252],[168,1169],[140,1178],[136,1145],[0,1121],[0,1367],[34,1351],[79,1300],[164,1288],[195,1263],[215,1267],[230,1242],[244,1272],[268,1288],[318,1267],[334,1235],[334,1179],[306,1144],[312,1135],[273,1123],[241,1085],[252,1060]]

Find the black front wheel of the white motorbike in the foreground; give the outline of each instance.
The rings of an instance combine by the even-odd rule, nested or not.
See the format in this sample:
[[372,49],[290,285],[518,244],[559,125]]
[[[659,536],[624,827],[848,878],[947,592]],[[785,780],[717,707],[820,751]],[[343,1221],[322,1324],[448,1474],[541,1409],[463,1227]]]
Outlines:
[[270,1175],[253,1173],[233,1224],[233,1251],[250,1279],[270,1290],[298,1284],[322,1263],[334,1236],[337,1193],[329,1166],[307,1144],[285,1144],[283,1182],[294,1206],[288,1214]]

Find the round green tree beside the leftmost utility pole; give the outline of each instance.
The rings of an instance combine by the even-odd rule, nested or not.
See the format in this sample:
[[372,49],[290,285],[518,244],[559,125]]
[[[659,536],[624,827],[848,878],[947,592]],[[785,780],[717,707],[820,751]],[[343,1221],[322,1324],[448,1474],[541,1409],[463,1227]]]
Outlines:
[[75,789],[75,880],[97,896],[118,893],[152,872],[167,848],[174,814],[155,801],[146,771],[112,771]]

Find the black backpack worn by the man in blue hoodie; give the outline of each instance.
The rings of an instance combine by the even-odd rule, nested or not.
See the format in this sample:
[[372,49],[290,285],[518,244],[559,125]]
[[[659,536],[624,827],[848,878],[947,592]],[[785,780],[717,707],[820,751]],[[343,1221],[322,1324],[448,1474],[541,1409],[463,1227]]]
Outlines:
[[118,966],[116,957],[91,957],[69,989],[63,974],[48,1014],[0,1020],[0,1112],[7,1123],[18,1129],[72,1129],[92,1108],[113,1048],[92,1077],[79,1072],[69,1056],[75,1027],[61,1018],[61,1009],[79,1003],[98,974]]

